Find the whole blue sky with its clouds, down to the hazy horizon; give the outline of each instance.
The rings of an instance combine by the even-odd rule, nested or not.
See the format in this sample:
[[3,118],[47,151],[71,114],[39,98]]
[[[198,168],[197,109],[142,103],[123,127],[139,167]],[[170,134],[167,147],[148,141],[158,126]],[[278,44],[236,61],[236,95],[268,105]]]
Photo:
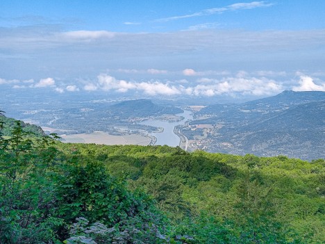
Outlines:
[[0,89],[267,97],[325,91],[325,1],[1,0]]

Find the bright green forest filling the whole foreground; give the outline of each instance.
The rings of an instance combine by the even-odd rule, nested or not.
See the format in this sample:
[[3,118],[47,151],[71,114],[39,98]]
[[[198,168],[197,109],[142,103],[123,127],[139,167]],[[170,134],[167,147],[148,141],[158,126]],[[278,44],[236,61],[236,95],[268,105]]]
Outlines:
[[0,243],[325,243],[324,159],[64,144],[23,125],[0,115]]

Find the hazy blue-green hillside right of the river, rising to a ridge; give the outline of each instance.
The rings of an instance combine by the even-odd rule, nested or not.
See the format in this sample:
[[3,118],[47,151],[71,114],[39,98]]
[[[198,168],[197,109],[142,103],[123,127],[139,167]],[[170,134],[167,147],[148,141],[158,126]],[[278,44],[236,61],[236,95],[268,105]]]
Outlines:
[[244,104],[208,106],[196,116],[204,119],[192,126],[213,125],[206,131],[208,152],[325,158],[325,92],[284,91]]

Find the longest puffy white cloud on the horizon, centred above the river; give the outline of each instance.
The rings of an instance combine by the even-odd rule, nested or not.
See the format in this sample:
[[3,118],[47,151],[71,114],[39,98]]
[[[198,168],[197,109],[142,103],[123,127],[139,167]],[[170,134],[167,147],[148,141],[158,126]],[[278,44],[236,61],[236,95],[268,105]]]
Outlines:
[[[140,91],[147,95],[194,95],[215,96],[222,94],[242,95],[274,95],[283,90],[280,83],[272,79],[256,77],[226,77],[223,79],[202,78],[197,86],[190,86],[188,82],[162,81],[124,81],[108,74],[97,76],[97,82],[88,83],[84,90],[103,90],[115,92]],[[188,85],[188,86],[186,86]]]

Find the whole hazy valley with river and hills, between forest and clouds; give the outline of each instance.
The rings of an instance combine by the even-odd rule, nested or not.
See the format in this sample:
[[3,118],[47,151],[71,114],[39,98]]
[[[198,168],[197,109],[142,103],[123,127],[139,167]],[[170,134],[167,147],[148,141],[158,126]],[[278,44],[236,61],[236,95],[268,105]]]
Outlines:
[[325,92],[284,91],[242,104],[194,101],[187,106],[177,100],[100,98],[24,104],[16,97],[2,100],[1,109],[58,133],[65,143],[169,145],[189,152],[285,155],[308,161],[325,157]]

